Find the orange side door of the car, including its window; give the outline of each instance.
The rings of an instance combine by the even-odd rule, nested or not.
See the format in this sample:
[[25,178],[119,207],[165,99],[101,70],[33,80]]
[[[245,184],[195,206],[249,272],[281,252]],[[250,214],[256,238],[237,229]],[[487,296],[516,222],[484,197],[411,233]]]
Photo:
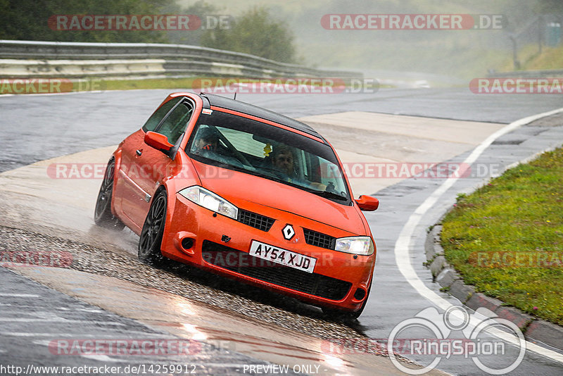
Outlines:
[[[168,142],[173,145],[180,142],[195,107],[189,99],[179,99],[175,102],[158,125],[153,127],[153,132],[164,134]],[[122,195],[121,207],[123,213],[132,220],[139,231],[156,189],[170,174],[175,163],[170,155],[153,149],[144,142],[146,131],[148,132],[150,128],[144,127],[143,130],[132,134],[122,145],[124,166],[120,172],[124,175],[126,194]]]

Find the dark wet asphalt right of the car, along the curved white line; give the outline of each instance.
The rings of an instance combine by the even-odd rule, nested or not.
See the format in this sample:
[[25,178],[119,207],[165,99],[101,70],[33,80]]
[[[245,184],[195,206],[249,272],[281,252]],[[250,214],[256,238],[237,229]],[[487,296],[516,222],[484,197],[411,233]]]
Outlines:
[[[502,170],[508,165],[520,161],[538,151],[559,147],[563,144],[563,115],[555,115],[550,121],[538,121],[521,127],[500,137],[476,161],[481,165],[496,165],[500,163]],[[453,158],[450,162],[462,162],[469,152]],[[500,170],[502,172],[502,170]],[[424,242],[426,230],[437,223],[443,213],[455,203],[457,194],[472,192],[476,187],[486,182],[483,178],[459,179],[454,186],[438,200],[429,211],[422,215],[422,219],[415,230],[410,251],[410,263],[415,268],[417,275],[434,293],[441,296],[453,305],[459,301],[446,292],[441,292],[441,286],[432,282],[432,275],[423,264],[426,262]],[[400,230],[403,229],[410,215],[415,212],[426,197],[432,194],[443,181],[439,179],[411,179],[387,187],[377,192],[376,196],[381,201],[378,211],[365,213],[369,225],[374,231],[377,241],[377,267],[375,276],[375,289],[368,301],[365,313],[360,316],[361,331],[370,338],[386,338],[392,327],[403,320],[415,317],[424,308],[434,306],[433,303],[422,297],[412,286],[405,282],[396,263],[395,246]],[[384,218],[382,218],[384,217]],[[424,334],[421,334],[424,335]],[[426,335],[428,335],[426,333]],[[460,332],[457,332],[460,335]],[[426,337],[423,337],[426,338]],[[433,337],[430,337],[433,338]],[[460,336],[459,338],[463,338]],[[495,339],[493,339],[494,341]],[[507,346],[506,358],[511,361],[516,358],[512,346]],[[561,351],[559,351],[561,353]],[[433,357],[408,356],[420,364],[427,365]],[[482,357],[481,360],[486,357]],[[502,364],[505,356],[489,358],[488,361]],[[484,362],[483,362],[484,363]],[[476,368],[470,359],[453,356],[443,359],[438,368],[457,375],[486,375]],[[519,367],[510,372],[510,375],[561,375],[563,365],[549,361],[531,351],[526,352],[524,361]]]

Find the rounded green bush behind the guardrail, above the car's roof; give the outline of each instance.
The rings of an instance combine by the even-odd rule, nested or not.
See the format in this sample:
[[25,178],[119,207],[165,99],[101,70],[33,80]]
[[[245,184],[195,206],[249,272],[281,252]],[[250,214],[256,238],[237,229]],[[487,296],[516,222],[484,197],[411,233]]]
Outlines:
[[272,20],[266,8],[252,8],[229,30],[206,30],[201,45],[253,54],[284,63],[296,61],[293,35],[285,23]]

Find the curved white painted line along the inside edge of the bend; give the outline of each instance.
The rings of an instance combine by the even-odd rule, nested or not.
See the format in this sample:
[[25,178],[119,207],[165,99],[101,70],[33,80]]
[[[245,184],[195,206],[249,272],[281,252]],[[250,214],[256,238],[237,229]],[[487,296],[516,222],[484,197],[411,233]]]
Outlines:
[[[472,153],[469,154],[469,156],[465,159],[463,163],[467,163],[467,164],[474,163],[474,161],[476,161],[476,159],[479,158],[479,156],[481,156],[481,153],[483,153],[483,151],[485,151],[485,149],[487,149],[488,146],[490,146],[495,141],[495,139],[498,139],[498,137],[502,136],[503,134],[511,132],[512,130],[517,129],[522,125],[531,123],[534,120],[545,118],[546,116],[555,115],[556,113],[561,113],[561,112],[563,112],[563,108],[559,108],[558,110],[549,111],[546,113],[540,113],[538,115],[529,116],[528,118],[517,120],[514,123],[511,123],[506,127],[503,127],[497,132],[491,134],[491,136],[487,137],[483,142],[481,142],[481,144],[479,144],[479,146],[477,146],[472,151]],[[407,282],[409,282],[410,285],[414,287],[415,290],[417,290],[417,292],[420,295],[424,296],[424,298],[428,299],[429,301],[431,301],[431,303],[434,303],[434,305],[438,306],[439,308],[442,308],[443,310],[446,310],[453,305],[450,304],[447,300],[443,299],[438,294],[436,294],[434,291],[426,287],[424,282],[420,280],[420,278],[418,277],[417,273],[415,272],[415,269],[412,267],[412,264],[410,262],[409,252],[412,246],[412,238],[415,234],[415,229],[417,225],[420,223],[422,217],[424,216],[424,213],[426,213],[426,211],[429,211],[429,209],[432,206],[434,206],[434,204],[436,204],[438,199],[446,191],[448,191],[450,187],[453,186],[453,184],[457,181],[457,179],[458,177],[449,177],[428,198],[426,198],[426,200],[415,210],[415,213],[412,213],[412,215],[410,215],[409,219],[407,220],[407,223],[405,224],[405,226],[403,226],[403,229],[399,234],[397,242],[395,243],[395,261],[397,263],[400,272],[405,277],[405,280],[407,280]],[[518,345],[519,343],[516,337],[507,334],[506,332],[502,332],[500,330],[488,330],[488,332],[495,335],[495,337],[510,342],[511,344]],[[526,341],[526,349],[533,351],[534,353],[538,353],[542,356],[545,356],[546,358],[550,358],[553,361],[563,363],[563,354],[557,353],[556,351],[552,351],[549,349],[545,349],[542,346],[533,344],[530,341]]]

